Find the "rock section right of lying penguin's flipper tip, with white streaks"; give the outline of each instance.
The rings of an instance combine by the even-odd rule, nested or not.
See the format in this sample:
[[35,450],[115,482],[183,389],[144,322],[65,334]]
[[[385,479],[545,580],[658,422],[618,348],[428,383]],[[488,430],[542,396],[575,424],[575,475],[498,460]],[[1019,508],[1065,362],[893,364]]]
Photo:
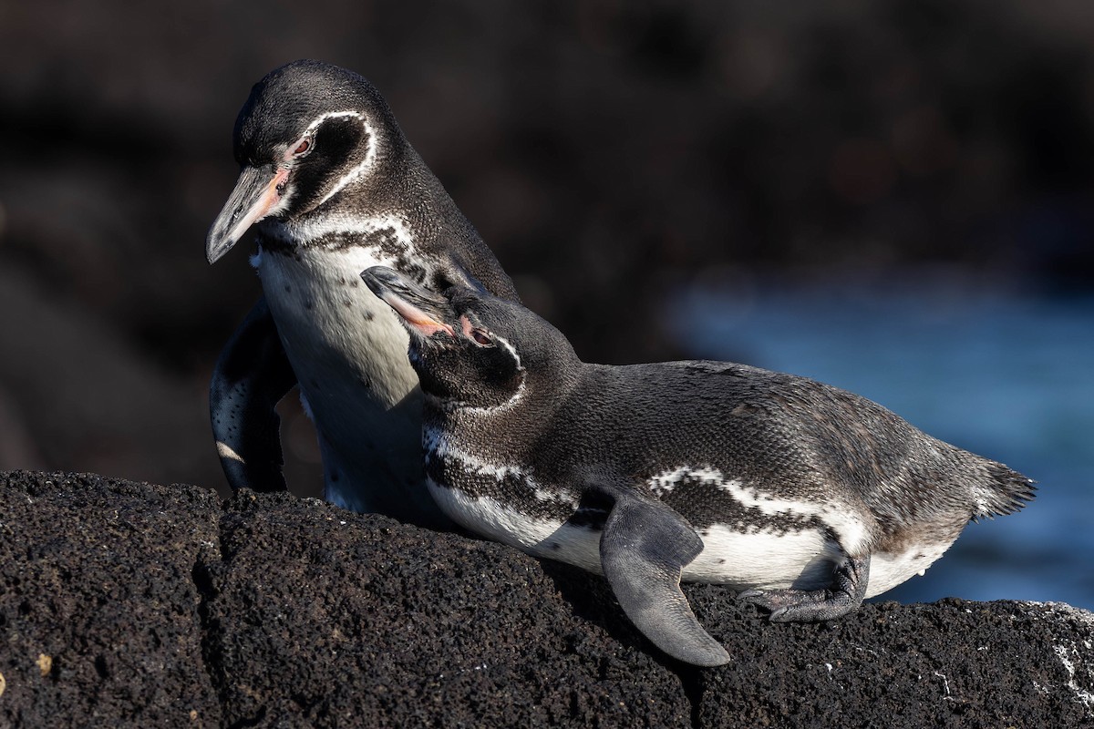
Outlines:
[[699,726],[1094,726],[1094,614],[1069,605],[882,602],[742,627],[713,631],[737,652],[703,673]]

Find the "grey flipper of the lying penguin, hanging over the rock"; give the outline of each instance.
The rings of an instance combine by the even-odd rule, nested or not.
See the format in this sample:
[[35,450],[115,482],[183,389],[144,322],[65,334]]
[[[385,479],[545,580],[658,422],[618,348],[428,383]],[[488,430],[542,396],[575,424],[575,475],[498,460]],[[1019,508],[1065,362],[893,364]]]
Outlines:
[[619,605],[655,646],[695,666],[730,655],[696,620],[680,571],[702,551],[690,525],[660,502],[616,494],[601,534],[601,564]]

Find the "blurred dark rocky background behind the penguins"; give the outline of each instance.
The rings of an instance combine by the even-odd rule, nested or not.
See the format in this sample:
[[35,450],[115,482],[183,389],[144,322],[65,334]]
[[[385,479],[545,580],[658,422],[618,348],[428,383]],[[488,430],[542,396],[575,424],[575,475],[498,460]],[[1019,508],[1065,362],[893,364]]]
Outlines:
[[772,270],[1089,291],[1092,40],[1056,0],[0,0],[0,469],[223,487],[206,386],[259,286],[203,239],[286,61],[371,79],[526,303],[621,363]]

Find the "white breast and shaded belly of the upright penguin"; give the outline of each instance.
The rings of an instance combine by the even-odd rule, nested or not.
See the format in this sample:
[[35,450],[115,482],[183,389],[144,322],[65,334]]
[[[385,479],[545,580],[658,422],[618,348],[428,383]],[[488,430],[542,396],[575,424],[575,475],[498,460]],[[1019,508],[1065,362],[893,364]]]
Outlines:
[[252,262],[318,431],[327,499],[397,514],[369,492],[422,483],[418,376],[406,330],[360,275],[394,261],[351,246],[259,251]]

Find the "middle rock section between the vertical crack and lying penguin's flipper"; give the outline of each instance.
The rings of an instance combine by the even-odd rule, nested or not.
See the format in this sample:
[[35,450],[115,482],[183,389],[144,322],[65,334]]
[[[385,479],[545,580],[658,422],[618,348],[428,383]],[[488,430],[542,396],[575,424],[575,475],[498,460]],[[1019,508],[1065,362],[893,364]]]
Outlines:
[[598,624],[559,597],[584,575],[289,495],[230,503],[221,550],[202,581],[229,724],[688,725],[606,596]]

